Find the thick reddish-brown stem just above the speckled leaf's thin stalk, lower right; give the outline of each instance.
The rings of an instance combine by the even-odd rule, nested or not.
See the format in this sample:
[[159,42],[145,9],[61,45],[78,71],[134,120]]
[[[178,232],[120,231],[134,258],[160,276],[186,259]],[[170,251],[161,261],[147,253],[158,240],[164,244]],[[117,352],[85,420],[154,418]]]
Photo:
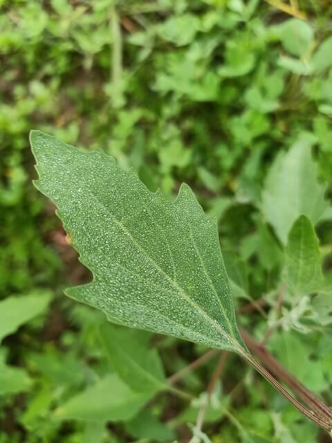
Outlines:
[[[288,388],[290,388],[299,399],[304,401],[316,415],[324,420],[329,420],[332,424],[332,411],[326,404],[316,397],[313,392],[309,391],[302,385],[292,374],[290,374],[280,363],[266,350],[264,345],[261,345],[254,338],[252,338],[246,331],[241,329],[241,335],[248,349],[259,356],[259,359],[264,363],[266,368],[278,379],[282,380]],[[331,426],[332,427],[332,426]]]

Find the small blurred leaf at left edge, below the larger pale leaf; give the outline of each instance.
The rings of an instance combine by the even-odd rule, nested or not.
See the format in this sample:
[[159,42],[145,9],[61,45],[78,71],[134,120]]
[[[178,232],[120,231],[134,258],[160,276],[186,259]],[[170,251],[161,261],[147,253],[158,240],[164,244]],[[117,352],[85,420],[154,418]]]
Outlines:
[[25,370],[0,364],[0,396],[29,390],[31,384],[32,380]]

